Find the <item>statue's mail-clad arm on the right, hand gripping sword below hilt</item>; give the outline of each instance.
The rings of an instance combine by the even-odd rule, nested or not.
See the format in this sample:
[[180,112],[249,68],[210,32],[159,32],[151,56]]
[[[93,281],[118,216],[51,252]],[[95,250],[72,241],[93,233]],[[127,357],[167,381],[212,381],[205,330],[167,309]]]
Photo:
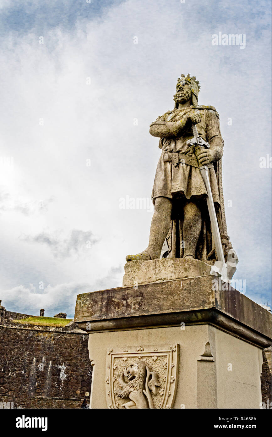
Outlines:
[[217,112],[212,109],[208,109],[206,112],[206,129],[210,149],[202,149],[196,153],[202,165],[218,161],[223,156],[224,141],[220,132],[219,117]]

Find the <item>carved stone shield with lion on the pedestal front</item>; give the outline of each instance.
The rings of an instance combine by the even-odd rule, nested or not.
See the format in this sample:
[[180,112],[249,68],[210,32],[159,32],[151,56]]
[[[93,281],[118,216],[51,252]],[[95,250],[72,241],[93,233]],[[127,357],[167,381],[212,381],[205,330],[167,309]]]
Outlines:
[[179,344],[107,350],[108,408],[172,408]]

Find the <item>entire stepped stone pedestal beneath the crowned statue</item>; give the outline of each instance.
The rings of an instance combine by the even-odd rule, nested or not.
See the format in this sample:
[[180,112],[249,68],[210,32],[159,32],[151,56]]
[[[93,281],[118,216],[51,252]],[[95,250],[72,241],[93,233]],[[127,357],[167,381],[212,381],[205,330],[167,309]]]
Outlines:
[[137,263],[124,279],[136,284],[77,296],[75,322],[90,333],[90,408],[260,408],[271,314],[201,261],[142,262],[157,265],[153,277]]

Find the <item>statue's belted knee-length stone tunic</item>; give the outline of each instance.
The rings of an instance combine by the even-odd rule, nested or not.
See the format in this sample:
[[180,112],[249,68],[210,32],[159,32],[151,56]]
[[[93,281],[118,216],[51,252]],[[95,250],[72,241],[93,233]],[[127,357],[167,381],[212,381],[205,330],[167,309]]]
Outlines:
[[[198,109],[203,108],[203,109]],[[206,109],[208,108],[208,109]],[[184,121],[185,115],[197,113],[200,115],[201,121],[196,125],[198,133],[205,141],[219,136],[221,139],[220,127],[218,122],[218,114],[213,107],[190,107],[186,109],[174,109],[158,117],[151,125],[165,124],[173,132],[173,137],[161,138],[159,148],[162,149],[162,154],[158,161],[155,174],[154,186],[151,194],[153,203],[157,197],[186,197],[191,198],[206,198],[207,191],[201,176],[199,167],[179,162],[177,165],[172,164],[171,153],[179,152],[181,155],[192,158],[197,163],[194,149],[186,145],[188,139],[193,138],[192,123],[190,120]],[[184,124],[183,129],[178,136],[175,131]],[[223,140],[222,140],[223,141]],[[218,157],[218,159],[220,156]],[[187,160],[188,162],[188,160]],[[198,164],[197,164],[198,165]],[[217,177],[213,166],[208,168],[210,186],[213,194],[213,201],[220,206],[220,196],[217,186]]]

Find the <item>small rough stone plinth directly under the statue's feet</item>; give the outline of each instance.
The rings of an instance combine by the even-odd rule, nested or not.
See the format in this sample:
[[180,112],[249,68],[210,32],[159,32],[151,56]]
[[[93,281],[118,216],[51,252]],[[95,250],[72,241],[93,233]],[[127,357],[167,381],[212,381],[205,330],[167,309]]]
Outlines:
[[210,265],[203,261],[187,258],[129,261],[124,266],[123,287],[186,277],[206,276],[210,274],[210,268]]

